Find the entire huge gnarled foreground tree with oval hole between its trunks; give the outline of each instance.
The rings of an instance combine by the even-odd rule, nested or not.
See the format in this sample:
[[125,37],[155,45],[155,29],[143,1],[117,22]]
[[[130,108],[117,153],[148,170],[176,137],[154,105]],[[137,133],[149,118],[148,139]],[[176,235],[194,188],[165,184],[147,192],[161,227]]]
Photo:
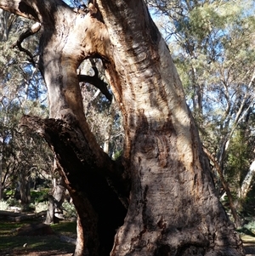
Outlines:
[[[112,245],[111,256],[242,255],[144,2],[98,0],[100,14],[91,4],[82,13],[59,0],[13,2],[9,10],[42,24],[40,68],[52,119],[25,117],[23,124],[37,129],[59,161],[77,208],[75,255],[109,255]],[[122,110],[124,171],[99,148],[84,117],[76,71],[91,57],[104,61]]]

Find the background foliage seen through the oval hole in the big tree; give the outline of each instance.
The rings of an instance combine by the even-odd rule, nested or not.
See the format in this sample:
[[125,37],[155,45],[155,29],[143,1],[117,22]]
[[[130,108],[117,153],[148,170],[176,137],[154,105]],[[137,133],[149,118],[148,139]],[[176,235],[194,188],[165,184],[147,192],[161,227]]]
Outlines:
[[[105,69],[102,62],[100,60],[95,61],[95,63],[94,60],[85,60],[82,62],[80,66],[81,73],[87,73],[87,76],[93,77],[96,75],[94,71],[96,69],[99,71],[100,79],[105,83],[109,83],[105,77]],[[99,88],[96,88],[89,82],[80,82],[80,85],[85,116],[100,147],[112,158],[120,156],[124,134],[122,114],[116,105],[116,100],[110,91],[107,99]]]

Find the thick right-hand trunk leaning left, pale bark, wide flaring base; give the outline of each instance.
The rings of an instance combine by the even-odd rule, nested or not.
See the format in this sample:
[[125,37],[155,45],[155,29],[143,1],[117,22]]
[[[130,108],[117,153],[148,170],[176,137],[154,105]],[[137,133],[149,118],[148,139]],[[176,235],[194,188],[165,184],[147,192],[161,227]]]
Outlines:
[[177,71],[144,3],[98,3],[113,43],[117,75],[112,66],[108,72],[132,177],[111,255],[238,255],[241,242],[215,195]]

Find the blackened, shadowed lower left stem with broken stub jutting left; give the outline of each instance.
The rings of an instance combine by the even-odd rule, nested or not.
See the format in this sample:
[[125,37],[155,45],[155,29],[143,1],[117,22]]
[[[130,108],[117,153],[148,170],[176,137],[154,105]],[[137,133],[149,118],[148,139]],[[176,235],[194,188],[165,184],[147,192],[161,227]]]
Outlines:
[[[77,230],[80,235],[82,233],[78,238],[79,247],[81,242],[87,242],[84,248],[88,250],[99,247],[99,251],[89,255],[109,255],[116,229],[122,225],[127,213],[121,203],[125,202],[127,207],[127,191],[123,191],[127,185],[116,177],[112,181],[112,171],[107,170],[113,168],[113,163],[105,162],[105,169],[99,168],[86,138],[66,122],[25,116],[20,120],[20,126],[36,130],[55,153],[60,174],[77,208]],[[98,241],[96,237],[99,237]],[[78,251],[81,250],[79,247]]]

